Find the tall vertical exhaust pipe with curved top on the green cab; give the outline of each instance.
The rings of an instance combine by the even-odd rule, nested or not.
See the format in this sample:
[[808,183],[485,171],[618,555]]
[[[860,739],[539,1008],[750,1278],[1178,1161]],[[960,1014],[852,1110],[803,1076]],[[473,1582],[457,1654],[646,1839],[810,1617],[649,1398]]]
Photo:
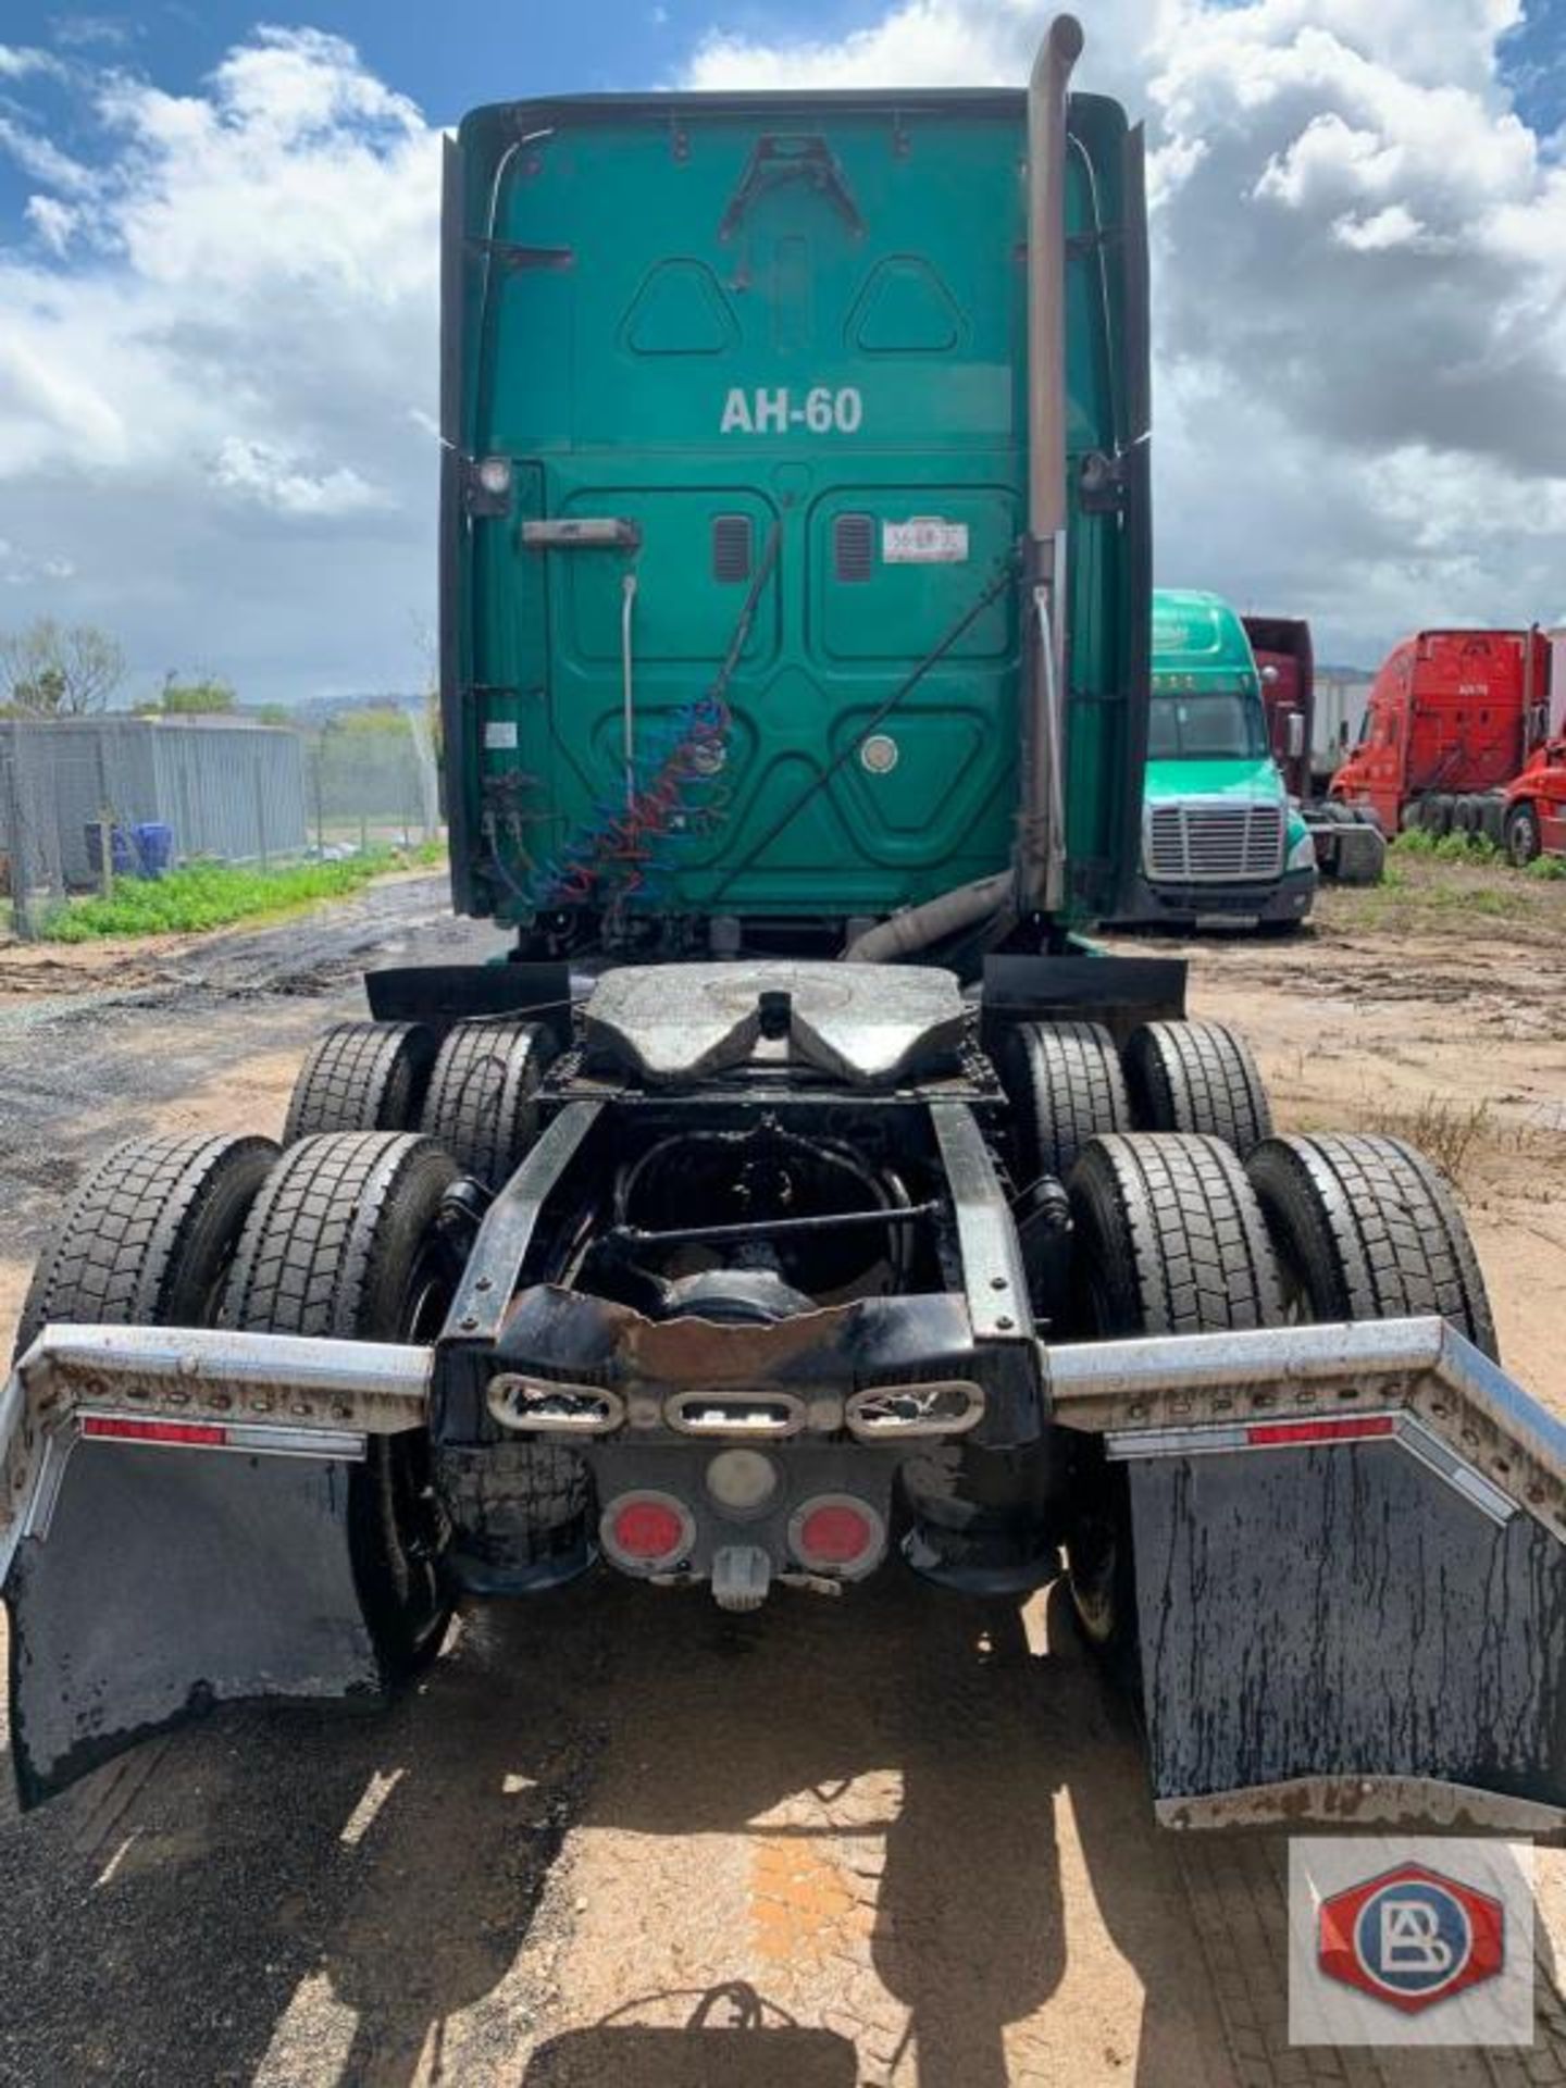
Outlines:
[[1027,555],[1017,910],[1065,900],[1065,113],[1082,23],[1057,15],[1027,81]]

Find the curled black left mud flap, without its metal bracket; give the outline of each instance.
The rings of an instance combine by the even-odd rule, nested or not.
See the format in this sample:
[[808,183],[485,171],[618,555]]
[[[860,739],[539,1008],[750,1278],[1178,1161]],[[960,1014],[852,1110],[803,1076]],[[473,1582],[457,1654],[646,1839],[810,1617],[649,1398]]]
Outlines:
[[355,1574],[363,1466],[77,1443],[4,1583],[23,1806],[150,1733],[255,1698],[376,1700]]

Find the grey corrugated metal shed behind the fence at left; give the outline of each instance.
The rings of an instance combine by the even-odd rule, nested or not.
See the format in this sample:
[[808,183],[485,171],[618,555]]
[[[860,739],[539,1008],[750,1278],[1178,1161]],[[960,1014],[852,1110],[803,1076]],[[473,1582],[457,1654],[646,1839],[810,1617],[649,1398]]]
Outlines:
[[236,718],[0,720],[0,852],[29,887],[94,883],[88,827],[173,829],[173,860],[305,850],[303,741]]

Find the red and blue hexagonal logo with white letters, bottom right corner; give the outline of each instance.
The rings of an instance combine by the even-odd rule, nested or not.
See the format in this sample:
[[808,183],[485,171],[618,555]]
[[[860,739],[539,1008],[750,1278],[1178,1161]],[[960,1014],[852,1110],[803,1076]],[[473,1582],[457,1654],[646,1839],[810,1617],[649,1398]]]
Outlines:
[[1315,1956],[1328,1979],[1420,2015],[1505,1965],[1505,1908],[1422,1862],[1322,1900]]

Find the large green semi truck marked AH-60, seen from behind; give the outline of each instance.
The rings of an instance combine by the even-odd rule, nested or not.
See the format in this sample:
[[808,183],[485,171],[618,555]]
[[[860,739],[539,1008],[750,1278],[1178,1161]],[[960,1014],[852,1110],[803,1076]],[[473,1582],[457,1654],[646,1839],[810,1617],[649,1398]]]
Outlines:
[[[1535,1829],[1566,1432],[1414,1148],[1276,1136],[1096,954],[1148,733],[1142,138],[1069,92],[593,96],[447,148],[459,910],[282,1144],[77,1186],[0,1397],[35,1804],[455,1604],[1065,1576],[1163,1821]],[[760,1629],[764,1629],[764,1616]]]

